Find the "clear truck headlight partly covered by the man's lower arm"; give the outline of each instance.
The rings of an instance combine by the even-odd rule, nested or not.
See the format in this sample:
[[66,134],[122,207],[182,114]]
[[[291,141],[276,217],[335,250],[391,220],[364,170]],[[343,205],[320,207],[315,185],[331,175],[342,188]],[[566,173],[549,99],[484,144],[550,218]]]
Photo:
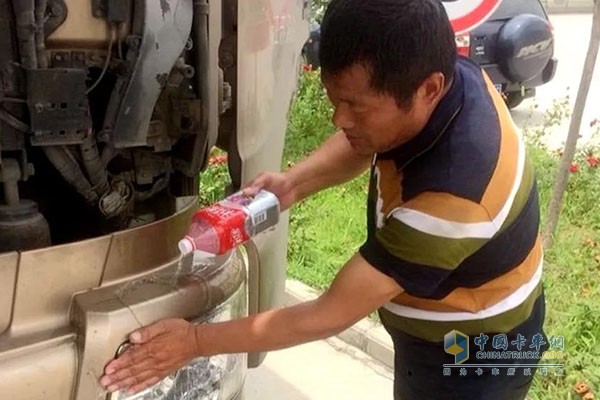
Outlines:
[[[221,322],[247,315],[246,284],[212,313],[192,322]],[[242,389],[246,375],[247,354],[201,357],[133,396],[121,392],[114,400],[230,400]]]

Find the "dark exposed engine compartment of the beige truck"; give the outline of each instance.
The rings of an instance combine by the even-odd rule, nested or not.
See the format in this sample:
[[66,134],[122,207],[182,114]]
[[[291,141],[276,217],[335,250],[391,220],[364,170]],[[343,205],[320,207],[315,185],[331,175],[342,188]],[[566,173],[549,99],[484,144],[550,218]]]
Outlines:
[[[0,252],[147,224],[170,197],[197,194],[210,150],[205,1],[0,7]],[[224,113],[231,92],[221,97]]]

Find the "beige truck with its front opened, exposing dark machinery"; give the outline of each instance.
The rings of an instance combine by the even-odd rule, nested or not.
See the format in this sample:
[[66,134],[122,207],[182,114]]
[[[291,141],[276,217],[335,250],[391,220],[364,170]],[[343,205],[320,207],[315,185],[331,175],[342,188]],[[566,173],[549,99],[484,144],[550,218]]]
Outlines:
[[135,396],[98,383],[162,318],[281,304],[288,219],[214,260],[177,249],[211,150],[229,191],[281,168],[307,0],[0,0],[0,392],[240,399],[263,353]]

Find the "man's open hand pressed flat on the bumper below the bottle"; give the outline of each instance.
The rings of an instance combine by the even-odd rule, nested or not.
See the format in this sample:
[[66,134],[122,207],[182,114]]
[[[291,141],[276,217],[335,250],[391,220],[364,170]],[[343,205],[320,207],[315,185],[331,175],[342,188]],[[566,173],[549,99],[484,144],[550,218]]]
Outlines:
[[198,357],[194,325],[165,319],[129,335],[132,346],[109,362],[100,384],[109,392],[137,393]]

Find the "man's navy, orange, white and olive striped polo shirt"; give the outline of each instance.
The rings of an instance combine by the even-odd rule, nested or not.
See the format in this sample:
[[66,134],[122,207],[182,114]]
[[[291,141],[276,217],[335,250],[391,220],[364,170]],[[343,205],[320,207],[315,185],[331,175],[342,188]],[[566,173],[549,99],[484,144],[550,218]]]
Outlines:
[[361,255],[404,292],[380,310],[439,342],[508,332],[542,293],[532,164],[500,94],[470,60],[422,132],[373,159]]

